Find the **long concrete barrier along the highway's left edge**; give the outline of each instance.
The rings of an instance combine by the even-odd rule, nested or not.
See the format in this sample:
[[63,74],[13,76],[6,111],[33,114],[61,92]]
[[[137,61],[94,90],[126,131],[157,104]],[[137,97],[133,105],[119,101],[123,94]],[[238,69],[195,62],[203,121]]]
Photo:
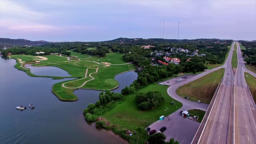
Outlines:
[[[223,77],[222,77],[222,79],[221,79],[221,83],[218,84],[218,87],[217,87],[217,89],[216,89],[216,91],[215,91],[215,93],[214,93],[214,95],[213,95],[213,97],[212,97],[212,100],[211,100],[211,102],[210,102],[210,105],[209,105],[208,109],[206,110],[206,113],[205,113],[205,115],[204,115],[204,118],[203,118],[203,120],[202,120],[202,122],[201,122],[201,124],[200,124],[200,126],[199,126],[199,128],[198,128],[198,130],[196,131],[196,135],[194,136],[194,138],[193,138],[191,144],[198,144],[198,143],[200,142],[200,140],[201,140],[201,138],[202,138],[202,134],[204,133],[204,129],[205,129],[205,127],[206,127],[206,124],[207,124],[207,122],[208,122],[208,120],[209,120],[208,118],[209,118],[210,114],[212,113],[212,108],[213,108],[213,106],[214,106],[214,104],[215,104],[215,101],[216,101],[216,99],[217,99],[217,96],[218,96],[218,94],[219,94],[219,92],[220,92],[220,87],[222,86],[222,82],[223,82]],[[218,92],[217,92],[217,91],[218,91]],[[216,93],[216,92],[217,92],[217,93]],[[214,100],[214,102],[212,102],[213,100]]]

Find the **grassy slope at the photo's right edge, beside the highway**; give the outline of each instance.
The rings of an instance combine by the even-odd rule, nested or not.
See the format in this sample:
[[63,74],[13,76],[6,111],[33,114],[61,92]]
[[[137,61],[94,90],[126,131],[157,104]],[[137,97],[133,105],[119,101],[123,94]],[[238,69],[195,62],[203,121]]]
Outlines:
[[256,103],[256,78],[247,72],[244,73],[246,83],[249,85],[254,102]]

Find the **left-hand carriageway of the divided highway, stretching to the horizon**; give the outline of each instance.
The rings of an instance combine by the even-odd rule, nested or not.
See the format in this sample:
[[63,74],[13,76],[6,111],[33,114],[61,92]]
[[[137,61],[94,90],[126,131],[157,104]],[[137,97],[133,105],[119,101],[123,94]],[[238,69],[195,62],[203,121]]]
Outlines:
[[234,43],[224,64],[225,73],[222,86],[199,139],[198,143],[200,144],[233,143],[234,74],[231,67],[232,50],[234,50]]

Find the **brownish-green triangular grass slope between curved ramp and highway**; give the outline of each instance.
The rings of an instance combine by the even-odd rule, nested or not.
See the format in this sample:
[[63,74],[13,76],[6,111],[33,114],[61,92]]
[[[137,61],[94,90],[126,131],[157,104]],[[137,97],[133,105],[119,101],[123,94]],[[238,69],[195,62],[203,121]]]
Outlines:
[[221,68],[179,87],[176,93],[182,97],[188,96],[192,101],[200,100],[209,104],[223,76],[224,68]]

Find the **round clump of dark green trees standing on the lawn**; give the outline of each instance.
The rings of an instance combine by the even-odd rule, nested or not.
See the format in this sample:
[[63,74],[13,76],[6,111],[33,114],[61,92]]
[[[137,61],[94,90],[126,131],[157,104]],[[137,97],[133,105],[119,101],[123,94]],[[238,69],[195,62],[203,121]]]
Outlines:
[[159,91],[149,91],[146,94],[140,93],[135,97],[140,110],[154,109],[164,103],[165,98]]

